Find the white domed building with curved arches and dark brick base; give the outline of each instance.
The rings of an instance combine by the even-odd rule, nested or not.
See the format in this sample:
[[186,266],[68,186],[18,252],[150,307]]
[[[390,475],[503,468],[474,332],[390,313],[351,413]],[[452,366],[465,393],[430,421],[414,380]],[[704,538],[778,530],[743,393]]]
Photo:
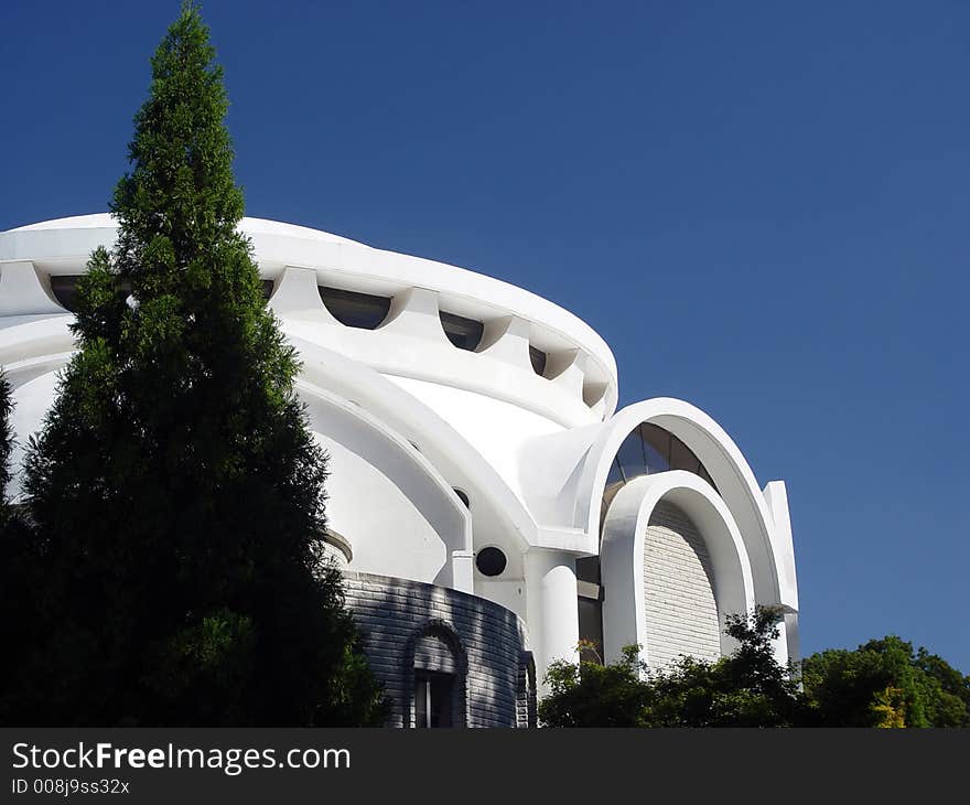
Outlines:
[[[326,539],[391,724],[531,726],[545,669],[581,640],[606,661],[629,644],[650,665],[716,658],[725,616],[755,604],[783,608],[777,657],[797,658],[785,484],[761,486],[704,411],[617,410],[607,344],[521,288],[301,226],[240,228],[302,359]],[[0,233],[14,462],[74,350],[76,279],[115,237],[107,214]]]

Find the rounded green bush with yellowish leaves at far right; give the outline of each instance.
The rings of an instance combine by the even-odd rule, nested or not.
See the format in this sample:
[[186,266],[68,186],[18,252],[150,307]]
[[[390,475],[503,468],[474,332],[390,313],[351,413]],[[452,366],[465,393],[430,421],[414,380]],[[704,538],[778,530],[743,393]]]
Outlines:
[[802,680],[824,727],[970,727],[970,677],[895,635],[813,654]]

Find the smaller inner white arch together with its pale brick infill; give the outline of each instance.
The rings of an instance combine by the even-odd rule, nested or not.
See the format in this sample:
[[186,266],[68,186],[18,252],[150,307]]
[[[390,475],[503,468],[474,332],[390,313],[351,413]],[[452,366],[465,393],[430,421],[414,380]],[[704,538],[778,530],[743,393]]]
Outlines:
[[679,655],[716,659],[735,643],[721,627],[754,605],[744,541],[724,501],[697,475],[634,479],[603,525],[603,642],[607,659],[638,644],[654,667]]

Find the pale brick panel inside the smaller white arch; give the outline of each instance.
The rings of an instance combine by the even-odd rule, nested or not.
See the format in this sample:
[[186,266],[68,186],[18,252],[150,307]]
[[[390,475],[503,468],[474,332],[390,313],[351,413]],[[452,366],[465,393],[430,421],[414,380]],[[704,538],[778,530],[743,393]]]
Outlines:
[[713,578],[710,555],[697,526],[677,506],[659,503],[644,541],[650,665],[667,665],[680,654],[699,659],[721,656]]

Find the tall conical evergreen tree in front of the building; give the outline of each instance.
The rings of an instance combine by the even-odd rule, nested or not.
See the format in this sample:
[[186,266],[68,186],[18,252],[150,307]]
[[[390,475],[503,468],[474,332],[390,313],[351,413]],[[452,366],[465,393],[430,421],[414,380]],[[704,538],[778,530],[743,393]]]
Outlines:
[[[325,454],[236,230],[220,67],[185,4],[152,58],[119,234],[78,281],[78,352],[25,462],[56,616],[28,723],[379,723],[320,539]],[[8,719],[18,713],[8,710]]]

